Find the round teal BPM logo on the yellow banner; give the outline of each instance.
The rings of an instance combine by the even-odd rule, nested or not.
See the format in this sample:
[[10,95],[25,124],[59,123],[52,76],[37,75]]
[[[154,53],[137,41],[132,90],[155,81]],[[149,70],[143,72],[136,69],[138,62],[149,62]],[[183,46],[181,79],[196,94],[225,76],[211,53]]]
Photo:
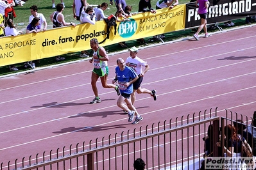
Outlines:
[[130,19],[130,21],[126,20],[121,22],[118,27],[118,33],[123,38],[129,38],[134,35],[137,30],[137,22],[134,19]]

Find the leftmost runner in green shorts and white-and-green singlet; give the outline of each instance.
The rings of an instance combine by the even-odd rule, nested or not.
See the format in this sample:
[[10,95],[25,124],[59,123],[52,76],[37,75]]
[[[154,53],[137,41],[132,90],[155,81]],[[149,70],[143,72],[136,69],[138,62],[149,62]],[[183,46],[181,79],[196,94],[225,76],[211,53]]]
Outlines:
[[103,88],[114,88],[117,92],[117,95],[120,95],[119,87],[114,84],[107,83],[108,77],[108,55],[106,50],[103,47],[99,47],[99,42],[96,38],[90,40],[90,47],[92,48],[94,54],[92,59],[89,60],[90,63],[93,62],[94,69],[92,70],[92,91],[94,92],[95,98],[90,102],[90,104],[100,103],[101,99],[99,98],[98,88],[96,82],[99,77],[101,79],[101,84]]

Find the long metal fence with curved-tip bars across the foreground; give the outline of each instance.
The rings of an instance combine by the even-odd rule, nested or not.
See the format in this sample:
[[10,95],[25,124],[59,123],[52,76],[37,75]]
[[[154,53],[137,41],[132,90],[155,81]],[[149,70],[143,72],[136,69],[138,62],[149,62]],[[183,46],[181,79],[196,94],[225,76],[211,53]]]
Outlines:
[[[221,120],[230,121],[228,116],[226,111],[226,118]],[[136,158],[146,162],[146,169],[199,169],[203,160],[202,139],[209,125],[213,125],[213,142],[219,141],[219,123],[217,108],[214,112],[210,109],[97,138],[89,144],[58,148],[55,153],[44,151],[42,155],[2,163],[1,169],[133,169]],[[225,122],[221,121],[221,125]],[[214,155],[218,155],[217,146],[213,147]]]

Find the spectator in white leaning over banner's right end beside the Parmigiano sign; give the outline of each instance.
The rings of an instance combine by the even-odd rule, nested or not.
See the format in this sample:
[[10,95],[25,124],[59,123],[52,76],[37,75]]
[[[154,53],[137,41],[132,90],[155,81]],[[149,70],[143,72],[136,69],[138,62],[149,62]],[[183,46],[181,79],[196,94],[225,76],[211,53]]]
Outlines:
[[[169,10],[173,9],[176,5],[178,5],[178,0],[158,0],[157,4],[156,4],[156,10],[158,9],[162,9],[162,8],[168,8]],[[155,40],[157,40],[157,38],[161,38],[164,39],[166,38],[166,36],[164,34],[162,35],[157,35],[157,36],[153,36],[153,38],[149,39],[150,42],[155,42]]]

